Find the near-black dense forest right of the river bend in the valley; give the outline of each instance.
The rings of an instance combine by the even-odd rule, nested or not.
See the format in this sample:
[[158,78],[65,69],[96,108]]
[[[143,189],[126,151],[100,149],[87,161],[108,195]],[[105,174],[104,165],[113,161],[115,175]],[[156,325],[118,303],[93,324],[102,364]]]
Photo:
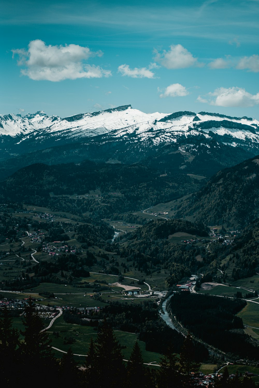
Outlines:
[[240,330],[242,319],[235,316],[245,305],[240,299],[189,292],[174,294],[170,300],[173,315],[197,338],[236,357],[257,360],[258,343]]

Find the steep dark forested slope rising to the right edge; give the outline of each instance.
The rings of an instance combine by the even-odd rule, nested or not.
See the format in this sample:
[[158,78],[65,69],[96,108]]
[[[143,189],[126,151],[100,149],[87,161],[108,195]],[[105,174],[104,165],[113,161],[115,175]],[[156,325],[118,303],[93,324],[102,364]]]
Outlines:
[[178,217],[193,215],[207,225],[243,229],[259,215],[259,156],[219,171],[186,200]]

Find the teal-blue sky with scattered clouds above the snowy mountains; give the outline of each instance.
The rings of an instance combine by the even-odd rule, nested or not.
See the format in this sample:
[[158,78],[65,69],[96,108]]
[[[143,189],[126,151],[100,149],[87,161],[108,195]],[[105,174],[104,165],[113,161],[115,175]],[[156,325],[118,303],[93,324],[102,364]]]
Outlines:
[[3,0],[0,114],[259,119],[258,17],[259,0]]

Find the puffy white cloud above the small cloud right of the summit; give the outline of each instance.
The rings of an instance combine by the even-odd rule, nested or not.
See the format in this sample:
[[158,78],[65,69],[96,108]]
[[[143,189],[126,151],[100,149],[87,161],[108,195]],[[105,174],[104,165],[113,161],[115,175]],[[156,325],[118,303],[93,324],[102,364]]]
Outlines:
[[162,53],[154,51],[155,61],[159,62],[167,69],[183,69],[191,66],[203,66],[197,59],[182,45],[171,45],[170,50],[163,50]]

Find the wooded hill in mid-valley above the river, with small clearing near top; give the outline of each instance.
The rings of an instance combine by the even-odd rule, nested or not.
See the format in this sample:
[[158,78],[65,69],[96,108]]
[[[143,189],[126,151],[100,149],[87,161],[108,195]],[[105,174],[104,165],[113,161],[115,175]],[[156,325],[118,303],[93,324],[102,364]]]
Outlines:
[[[197,240],[191,244],[171,242],[170,234],[182,232],[195,234]],[[197,244],[207,236],[204,225],[192,224],[182,220],[156,220],[150,221],[136,233],[122,237],[120,241],[120,256],[133,260],[133,265],[143,270],[146,275],[154,272],[165,274],[165,285],[170,288],[181,279],[188,277],[198,270],[206,270],[209,267],[213,255],[209,255],[204,246]],[[197,257],[202,260],[198,261]],[[202,268],[202,269],[201,269]]]

